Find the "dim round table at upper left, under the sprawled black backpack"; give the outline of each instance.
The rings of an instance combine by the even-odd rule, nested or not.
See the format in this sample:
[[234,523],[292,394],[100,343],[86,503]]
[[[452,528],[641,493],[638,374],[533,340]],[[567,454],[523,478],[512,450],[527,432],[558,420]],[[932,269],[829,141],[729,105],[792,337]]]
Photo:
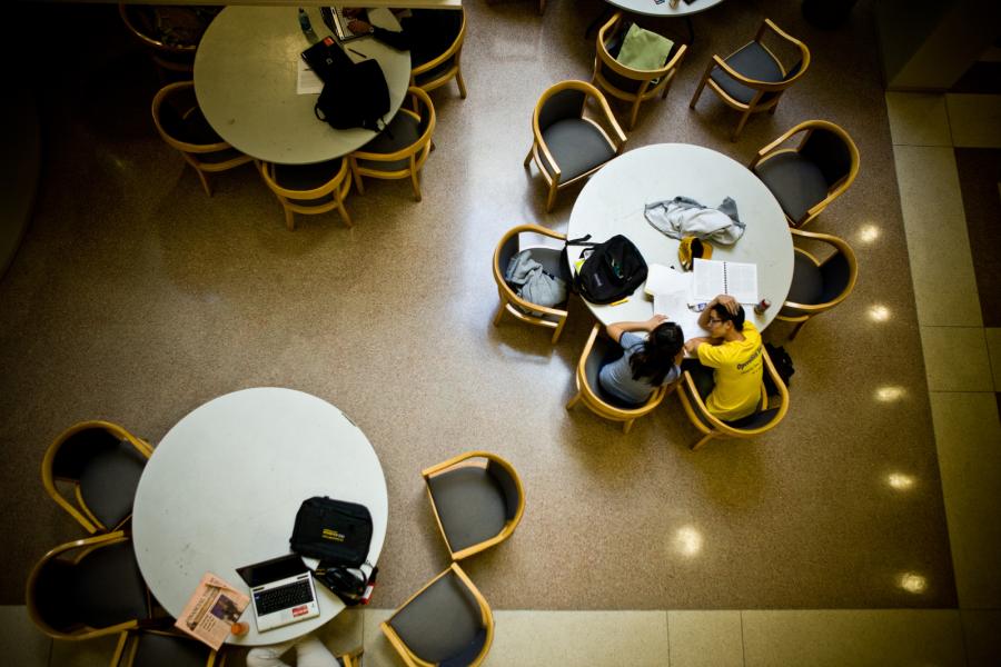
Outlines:
[[[329,34],[318,7],[306,12],[317,36]],[[410,81],[409,52],[371,37],[347,46],[383,68],[389,88],[388,123]],[[298,62],[308,47],[296,7],[224,9],[195,57],[195,94],[212,129],[237,150],[279,165],[333,160],[375,137],[363,128],[335,130],[314,115],[318,93],[297,94]]]

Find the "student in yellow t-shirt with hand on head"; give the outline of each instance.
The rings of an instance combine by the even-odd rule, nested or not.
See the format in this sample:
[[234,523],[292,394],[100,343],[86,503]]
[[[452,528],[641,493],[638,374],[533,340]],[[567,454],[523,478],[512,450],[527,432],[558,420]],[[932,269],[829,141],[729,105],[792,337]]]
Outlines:
[[753,415],[761,401],[761,334],[744,321],[744,309],[730,295],[710,301],[698,326],[708,336],[685,342],[685,351],[698,362],[686,360],[683,368],[692,372],[705,407],[723,421]]

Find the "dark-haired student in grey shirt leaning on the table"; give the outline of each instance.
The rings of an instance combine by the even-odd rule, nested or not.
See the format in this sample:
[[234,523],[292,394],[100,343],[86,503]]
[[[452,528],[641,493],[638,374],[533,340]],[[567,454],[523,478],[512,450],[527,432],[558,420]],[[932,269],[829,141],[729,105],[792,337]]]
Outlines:
[[[654,389],[681,377],[685,336],[681,327],[663,315],[645,322],[614,322],[605,328],[608,337],[622,347],[622,357],[602,367],[602,389],[620,401],[638,406]],[[634,331],[646,331],[644,339]]]

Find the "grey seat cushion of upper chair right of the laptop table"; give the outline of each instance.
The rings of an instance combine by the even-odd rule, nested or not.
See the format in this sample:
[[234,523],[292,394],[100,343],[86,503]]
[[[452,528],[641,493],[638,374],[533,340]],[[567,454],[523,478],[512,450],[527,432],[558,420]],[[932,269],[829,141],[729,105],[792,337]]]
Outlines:
[[495,537],[504,527],[504,491],[485,468],[463,466],[427,480],[453,551]]

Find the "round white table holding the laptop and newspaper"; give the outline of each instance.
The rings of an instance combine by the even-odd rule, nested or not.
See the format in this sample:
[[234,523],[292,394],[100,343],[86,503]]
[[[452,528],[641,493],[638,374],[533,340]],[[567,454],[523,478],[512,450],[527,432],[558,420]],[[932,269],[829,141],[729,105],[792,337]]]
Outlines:
[[[236,568],[290,552],[296,511],[313,496],[368,507],[368,560],[376,564],[389,511],[386,480],[358,427],[325,400],[293,389],[244,389],[210,400],[170,429],[139,480],[132,540],[142,577],[175,617],[206,573],[249,595]],[[321,584],[316,591],[318,617],[258,634],[248,607],[249,633],[227,643],[277,644],[344,609]]]

